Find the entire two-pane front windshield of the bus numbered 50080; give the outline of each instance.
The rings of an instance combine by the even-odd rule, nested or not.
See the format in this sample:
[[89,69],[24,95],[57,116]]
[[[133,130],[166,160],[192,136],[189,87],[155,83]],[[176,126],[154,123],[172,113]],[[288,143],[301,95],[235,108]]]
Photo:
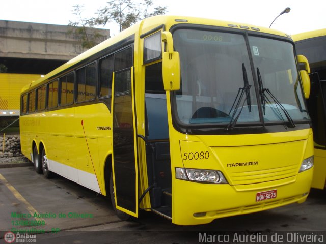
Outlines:
[[291,43],[199,29],[177,29],[173,38],[181,62],[181,89],[173,96],[180,124],[309,119]]

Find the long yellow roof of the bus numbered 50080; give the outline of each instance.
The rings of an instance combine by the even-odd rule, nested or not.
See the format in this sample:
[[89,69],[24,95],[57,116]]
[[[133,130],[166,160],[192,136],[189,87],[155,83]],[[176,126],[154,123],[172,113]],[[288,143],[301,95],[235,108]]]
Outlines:
[[291,38],[289,35],[277,31],[275,29],[270,29],[266,27],[255,26],[252,24],[244,24],[244,23],[237,23],[232,21],[222,21],[222,20],[214,20],[214,19],[205,19],[205,18],[198,18],[198,17],[184,17],[184,16],[168,16],[168,15],[159,15],[153,16],[146,19],[141,20],[140,22],[134,24],[133,26],[125,29],[121,33],[117,34],[114,37],[111,37],[102,43],[96,45],[95,47],[85,51],[82,54],[74,57],[73,59],[69,60],[67,63],[63,64],[62,66],[58,67],[57,69],[51,71],[44,77],[32,82],[30,85],[26,85],[22,89],[22,93],[26,92],[27,90],[34,89],[36,86],[45,84],[49,79],[55,77],[59,73],[69,70],[70,67],[83,62],[86,58],[102,51],[103,49],[125,39],[128,38],[139,31],[139,35],[146,34],[147,32],[151,31],[155,27],[160,25],[165,26],[165,29],[169,30],[171,26],[176,24],[203,24],[203,25],[211,25],[211,26],[220,26],[220,27],[227,27],[230,29],[247,29],[248,31],[259,32],[259,33],[267,33],[273,34],[281,37]]

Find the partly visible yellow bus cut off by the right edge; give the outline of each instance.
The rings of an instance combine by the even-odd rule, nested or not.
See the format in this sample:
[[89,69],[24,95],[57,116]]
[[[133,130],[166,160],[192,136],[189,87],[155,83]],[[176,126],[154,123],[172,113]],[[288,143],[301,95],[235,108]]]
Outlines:
[[326,184],[326,29],[293,35],[296,51],[307,57],[311,68],[311,96],[307,100],[314,131],[314,177],[311,187]]

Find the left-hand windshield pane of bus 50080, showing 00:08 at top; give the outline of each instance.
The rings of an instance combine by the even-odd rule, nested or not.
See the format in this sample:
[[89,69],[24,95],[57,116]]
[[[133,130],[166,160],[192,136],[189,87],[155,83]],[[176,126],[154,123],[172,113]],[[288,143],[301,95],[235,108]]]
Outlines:
[[[180,53],[181,90],[176,107],[181,123],[228,124],[243,92],[239,122],[259,121],[248,50],[244,36],[193,29],[173,34]],[[250,85],[246,98],[246,83]],[[247,111],[244,113],[244,111]]]

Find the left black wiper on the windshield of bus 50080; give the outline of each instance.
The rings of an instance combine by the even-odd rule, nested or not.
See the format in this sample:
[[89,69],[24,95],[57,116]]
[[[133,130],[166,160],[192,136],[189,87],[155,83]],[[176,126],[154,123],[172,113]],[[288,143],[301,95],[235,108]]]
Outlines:
[[[247,100],[248,96],[250,95],[250,93],[249,93],[250,88],[251,88],[250,84],[246,84],[244,87],[239,88],[238,93],[237,93],[237,95],[236,95],[236,97],[234,99],[234,102],[233,102],[232,107],[231,107],[230,112],[229,112],[229,115],[230,115],[232,110],[233,110],[234,104],[236,103],[236,105],[234,107],[234,110],[233,110],[233,113],[232,113],[232,116],[231,116],[231,119],[230,119],[230,122],[224,128],[226,131],[234,128],[234,126],[236,124],[236,121],[238,120],[238,118],[240,117],[240,114],[242,112],[244,102]],[[246,94],[246,97],[242,102],[241,109],[239,110],[237,116],[235,117],[236,112],[237,112],[238,108],[240,107],[240,103],[241,103],[241,100],[242,100],[244,94]],[[247,102],[248,102],[248,100],[247,100]]]

